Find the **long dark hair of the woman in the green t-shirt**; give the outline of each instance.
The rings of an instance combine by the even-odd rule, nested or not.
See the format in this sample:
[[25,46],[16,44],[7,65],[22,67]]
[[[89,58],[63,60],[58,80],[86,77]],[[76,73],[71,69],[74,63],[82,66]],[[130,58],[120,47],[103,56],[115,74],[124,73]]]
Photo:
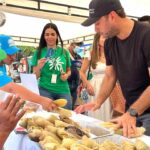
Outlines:
[[37,53],[38,59],[41,56],[42,48],[47,46],[47,43],[46,43],[45,38],[44,38],[44,34],[45,34],[45,30],[47,30],[48,28],[51,28],[51,29],[55,30],[55,32],[58,36],[58,39],[56,40],[56,45],[58,45],[58,42],[60,41],[61,47],[63,49],[63,41],[62,41],[62,38],[60,36],[60,33],[59,33],[59,30],[58,30],[57,26],[54,23],[47,23],[43,28],[43,31],[42,31],[42,34],[41,34],[41,37],[40,37],[39,47],[37,49],[38,50],[38,53]]

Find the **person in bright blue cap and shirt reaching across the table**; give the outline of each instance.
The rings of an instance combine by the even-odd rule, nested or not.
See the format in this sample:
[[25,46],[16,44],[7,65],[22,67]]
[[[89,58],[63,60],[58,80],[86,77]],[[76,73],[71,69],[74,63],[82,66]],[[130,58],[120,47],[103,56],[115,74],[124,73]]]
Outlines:
[[21,98],[42,105],[47,111],[56,109],[57,106],[47,97],[39,96],[25,87],[12,82],[7,75],[5,64],[10,65],[16,58],[18,48],[14,45],[14,41],[10,36],[0,35],[0,46],[7,54],[7,57],[0,61],[0,89],[9,93],[18,94]]

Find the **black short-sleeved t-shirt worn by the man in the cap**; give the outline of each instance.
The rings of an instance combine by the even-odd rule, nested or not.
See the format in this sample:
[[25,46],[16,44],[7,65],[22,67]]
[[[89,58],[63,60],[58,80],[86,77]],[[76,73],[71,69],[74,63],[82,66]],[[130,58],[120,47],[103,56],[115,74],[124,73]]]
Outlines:
[[105,42],[106,64],[113,65],[126,98],[133,104],[150,84],[150,25],[135,22],[128,38],[117,37]]

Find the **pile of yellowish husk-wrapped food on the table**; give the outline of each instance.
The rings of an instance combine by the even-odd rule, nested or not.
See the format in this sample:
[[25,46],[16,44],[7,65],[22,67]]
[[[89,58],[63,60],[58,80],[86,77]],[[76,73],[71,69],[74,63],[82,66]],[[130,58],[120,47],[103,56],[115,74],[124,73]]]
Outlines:
[[[36,113],[35,113],[36,114]],[[47,112],[48,114],[48,112]],[[55,113],[49,113],[48,117],[33,115],[23,117],[19,126],[26,129],[29,138],[38,142],[42,150],[148,150],[143,141],[137,139],[130,142],[124,138],[121,143],[107,139],[91,138],[90,129],[84,128],[71,119],[71,111],[58,108]],[[100,126],[115,129],[115,125],[103,122]],[[121,134],[121,129],[116,131]],[[141,136],[144,128],[137,128],[133,137]]]

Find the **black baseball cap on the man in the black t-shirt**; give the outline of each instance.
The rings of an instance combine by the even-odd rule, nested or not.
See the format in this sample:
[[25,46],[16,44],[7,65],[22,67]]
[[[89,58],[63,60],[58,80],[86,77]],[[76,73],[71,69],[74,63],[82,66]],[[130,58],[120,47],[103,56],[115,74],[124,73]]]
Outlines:
[[100,17],[121,8],[122,5],[119,0],[92,0],[89,4],[89,17],[82,25],[90,26],[98,21]]

